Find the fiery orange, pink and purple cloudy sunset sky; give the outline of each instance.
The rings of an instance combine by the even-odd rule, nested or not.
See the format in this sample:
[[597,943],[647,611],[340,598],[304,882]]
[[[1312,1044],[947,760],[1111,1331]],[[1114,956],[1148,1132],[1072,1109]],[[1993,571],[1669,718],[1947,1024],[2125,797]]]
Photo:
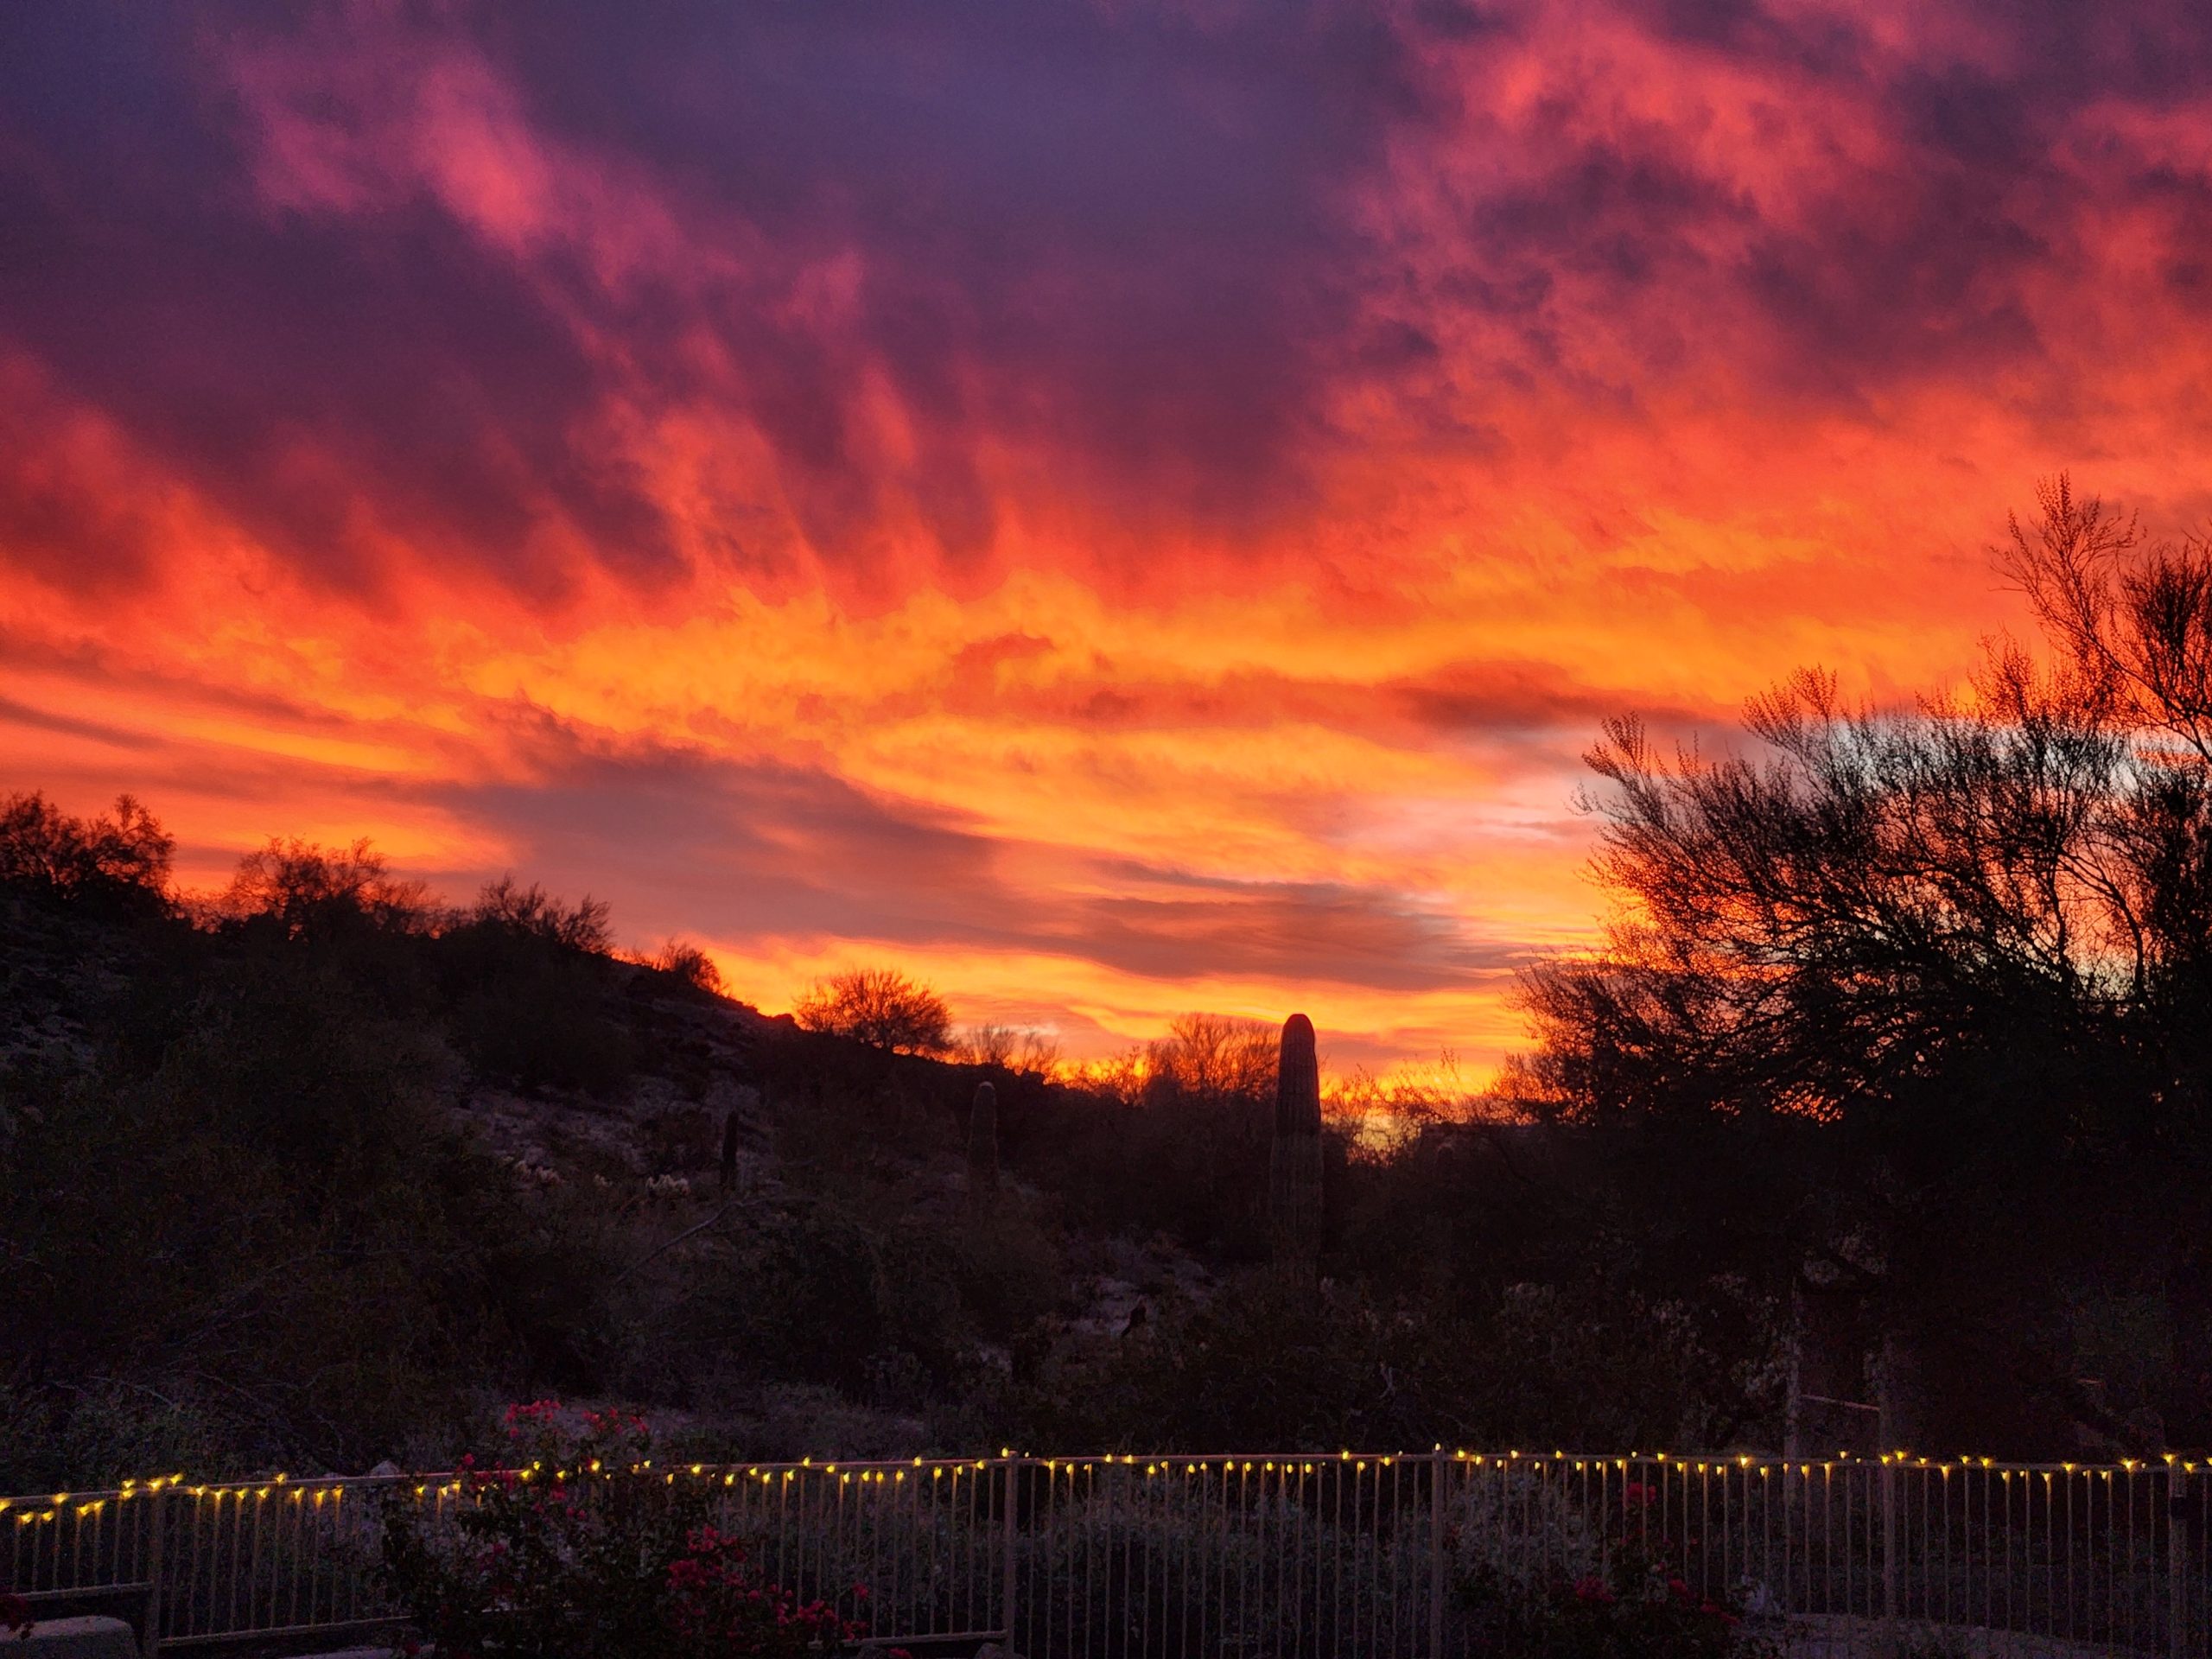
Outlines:
[[0,787],[1482,1071],[1577,752],[2203,524],[2212,11],[9,7]]

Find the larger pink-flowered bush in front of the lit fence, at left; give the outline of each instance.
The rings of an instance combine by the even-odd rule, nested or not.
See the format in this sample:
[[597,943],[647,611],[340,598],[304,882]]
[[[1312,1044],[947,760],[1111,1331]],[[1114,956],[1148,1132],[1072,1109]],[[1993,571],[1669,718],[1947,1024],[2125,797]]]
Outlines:
[[708,1486],[659,1475],[641,1418],[540,1400],[507,1436],[442,1504],[400,1489],[385,1509],[383,1582],[440,1659],[781,1659],[867,1635],[768,1579]]

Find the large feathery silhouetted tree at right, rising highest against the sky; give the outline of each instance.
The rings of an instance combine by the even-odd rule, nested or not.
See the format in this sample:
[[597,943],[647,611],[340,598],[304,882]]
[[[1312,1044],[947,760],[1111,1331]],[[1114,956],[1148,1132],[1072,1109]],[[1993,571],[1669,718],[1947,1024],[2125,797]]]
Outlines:
[[[2177,1352],[2212,1336],[2203,1225],[2177,1225],[2205,1219],[2212,551],[2057,480],[2002,557],[2048,661],[1995,644],[1966,695],[1902,712],[1801,672],[1743,754],[1606,723],[1588,805],[1621,918],[1526,975],[1540,1046],[1506,1091],[1756,1139],[1803,1181],[1801,1248],[1878,1263],[1891,1325],[2079,1420],[2068,1296],[2163,1279]],[[2190,1365],[2168,1433],[2203,1416]]]

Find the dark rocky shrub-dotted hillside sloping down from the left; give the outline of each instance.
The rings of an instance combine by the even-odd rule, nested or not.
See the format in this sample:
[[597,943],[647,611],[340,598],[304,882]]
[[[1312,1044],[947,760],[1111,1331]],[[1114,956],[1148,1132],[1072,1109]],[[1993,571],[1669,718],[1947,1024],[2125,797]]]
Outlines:
[[[1035,1075],[763,1018],[613,953],[588,900],[445,911],[361,849],[248,874],[0,891],[0,1137],[62,1186],[4,1234],[18,1484],[434,1460],[524,1391],[752,1455],[920,1451],[1214,1283],[1024,1177]],[[80,1316],[102,1274],[139,1294]]]

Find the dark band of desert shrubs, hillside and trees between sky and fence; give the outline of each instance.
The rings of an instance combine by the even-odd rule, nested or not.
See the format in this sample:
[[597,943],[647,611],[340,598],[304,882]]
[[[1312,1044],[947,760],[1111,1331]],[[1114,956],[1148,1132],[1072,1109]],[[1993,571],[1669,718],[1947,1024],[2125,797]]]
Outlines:
[[1971,697],[1608,728],[1628,920],[1493,1095],[1332,1117],[1318,1287],[1272,1031],[1053,1079],[898,975],[805,1029],[591,900],[299,843],[186,898],[135,803],[15,796],[0,1489],[442,1464],[538,1394],[695,1458],[1778,1447],[1792,1358],[1931,1453],[2203,1444],[2212,555],[2044,509],[2048,650]]

